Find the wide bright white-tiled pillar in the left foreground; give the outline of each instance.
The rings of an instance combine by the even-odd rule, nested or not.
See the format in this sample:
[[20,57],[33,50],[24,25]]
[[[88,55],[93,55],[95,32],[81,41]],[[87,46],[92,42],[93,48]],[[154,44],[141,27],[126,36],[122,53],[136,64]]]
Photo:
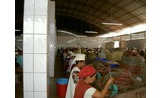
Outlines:
[[48,0],[25,0],[23,98],[47,98]]

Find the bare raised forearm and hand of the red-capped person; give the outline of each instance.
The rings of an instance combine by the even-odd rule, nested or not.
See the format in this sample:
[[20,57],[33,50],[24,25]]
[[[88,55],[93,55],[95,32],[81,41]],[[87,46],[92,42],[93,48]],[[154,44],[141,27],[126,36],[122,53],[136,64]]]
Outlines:
[[114,82],[114,78],[110,78],[107,83],[105,84],[104,88],[102,89],[102,91],[98,91],[96,90],[92,97],[94,98],[104,98],[106,95],[109,94],[109,85],[112,84]]

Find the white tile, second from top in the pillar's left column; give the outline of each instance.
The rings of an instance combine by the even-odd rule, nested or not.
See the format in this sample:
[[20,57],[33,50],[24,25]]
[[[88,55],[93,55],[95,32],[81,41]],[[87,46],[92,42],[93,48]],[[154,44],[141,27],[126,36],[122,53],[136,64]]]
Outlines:
[[31,33],[33,34],[33,23],[34,19],[32,15],[24,15],[24,25],[23,25],[23,33],[28,34]]

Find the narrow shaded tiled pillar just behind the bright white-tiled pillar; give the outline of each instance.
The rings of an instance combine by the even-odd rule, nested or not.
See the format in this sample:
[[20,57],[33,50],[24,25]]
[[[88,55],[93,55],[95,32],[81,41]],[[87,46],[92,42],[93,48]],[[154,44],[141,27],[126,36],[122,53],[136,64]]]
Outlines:
[[56,55],[56,46],[57,46],[57,35],[55,28],[55,1],[48,1],[48,74],[49,77],[54,77],[54,64],[55,64],[55,55]]

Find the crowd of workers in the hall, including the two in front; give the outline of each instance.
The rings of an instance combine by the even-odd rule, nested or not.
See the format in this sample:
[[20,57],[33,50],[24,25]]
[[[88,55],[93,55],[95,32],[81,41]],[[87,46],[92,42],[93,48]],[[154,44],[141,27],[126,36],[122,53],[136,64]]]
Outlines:
[[[124,48],[123,50],[136,52],[145,59],[144,49]],[[112,52],[109,49],[108,51]],[[63,66],[69,78],[66,98],[104,98],[109,95],[109,86],[114,83],[114,78],[109,78],[101,91],[92,86],[97,75],[92,66],[93,60],[95,58],[107,59],[105,49],[69,47],[58,48],[57,53],[63,58]]]

